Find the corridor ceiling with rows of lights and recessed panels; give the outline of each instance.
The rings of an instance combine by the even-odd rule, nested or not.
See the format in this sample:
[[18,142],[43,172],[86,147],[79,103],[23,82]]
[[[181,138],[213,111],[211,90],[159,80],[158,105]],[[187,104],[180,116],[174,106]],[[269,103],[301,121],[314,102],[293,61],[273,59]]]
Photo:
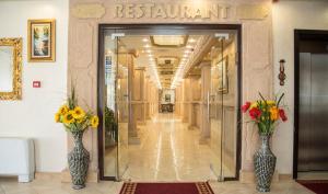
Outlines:
[[[163,89],[168,89],[179,66],[194,52],[200,35],[129,35],[120,38],[126,49],[136,49],[136,67],[145,67],[150,76],[157,72]],[[165,45],[164,45],[165,44]],[[155,78],[154,78],[155,79]]]

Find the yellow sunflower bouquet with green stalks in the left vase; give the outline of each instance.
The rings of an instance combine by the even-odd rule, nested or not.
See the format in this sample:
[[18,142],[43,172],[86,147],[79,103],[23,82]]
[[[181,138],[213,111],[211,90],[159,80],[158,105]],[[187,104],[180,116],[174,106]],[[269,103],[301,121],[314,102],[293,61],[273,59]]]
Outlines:
[[68,96],[68,102],[63,104],[55,114],[56,123],[62,123],[70,133],[84,132],[87,127],[96,128],[99,119],[91,111],[85,112],[78,105],[74,89]]

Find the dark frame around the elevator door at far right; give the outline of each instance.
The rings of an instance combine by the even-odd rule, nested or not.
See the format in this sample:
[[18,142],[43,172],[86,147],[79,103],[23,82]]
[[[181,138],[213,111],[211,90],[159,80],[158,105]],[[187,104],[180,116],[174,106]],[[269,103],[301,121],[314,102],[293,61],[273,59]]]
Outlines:
[[294,30],[294,148],[293,179],[297,179],[298,166],[298,122],[300,122],[300,42],[328,41],[328,31]]

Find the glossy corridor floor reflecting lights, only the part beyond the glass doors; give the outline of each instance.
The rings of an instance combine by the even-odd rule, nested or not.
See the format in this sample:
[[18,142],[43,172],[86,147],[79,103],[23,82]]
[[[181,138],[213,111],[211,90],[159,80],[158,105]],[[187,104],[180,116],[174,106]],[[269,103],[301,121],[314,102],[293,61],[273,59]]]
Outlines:
[[160,114],[139,126],[141,145],[129,146],[129,169],[133,181],[216,180],[212,162],[220,163],[208,145],[199,145],[199,130],[190,130],[174,114]]

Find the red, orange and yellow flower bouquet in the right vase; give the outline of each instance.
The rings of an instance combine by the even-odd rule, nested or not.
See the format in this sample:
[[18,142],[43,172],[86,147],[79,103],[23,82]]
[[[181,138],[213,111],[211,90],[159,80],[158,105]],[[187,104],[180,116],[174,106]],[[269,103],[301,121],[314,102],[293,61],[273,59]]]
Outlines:
[[255,102],[246,102],[242,106],[243,113],[249,114],[251,122],[258,125],[260,135],[272,135],[274,125],[279,119],[282,122],[288,121],[284,110],[280,106],[281,100],[284,96],[282,93],[274,101],[266,100],[261,93],[259,93],[260,100]]

